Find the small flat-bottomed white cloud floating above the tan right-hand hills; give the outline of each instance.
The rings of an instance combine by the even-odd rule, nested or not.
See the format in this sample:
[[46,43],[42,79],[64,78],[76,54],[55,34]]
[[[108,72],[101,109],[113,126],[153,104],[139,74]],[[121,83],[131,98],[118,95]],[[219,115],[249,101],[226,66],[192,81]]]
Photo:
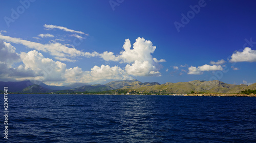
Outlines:
[[194,66],[190,66],[188,68],[188,73],[187,74],[203,74],[203,71],[217,71],[217,70],[223,70],[222,66],[220,65],[203,65],[203,66],[198,66],[198,67],[194,67]]

